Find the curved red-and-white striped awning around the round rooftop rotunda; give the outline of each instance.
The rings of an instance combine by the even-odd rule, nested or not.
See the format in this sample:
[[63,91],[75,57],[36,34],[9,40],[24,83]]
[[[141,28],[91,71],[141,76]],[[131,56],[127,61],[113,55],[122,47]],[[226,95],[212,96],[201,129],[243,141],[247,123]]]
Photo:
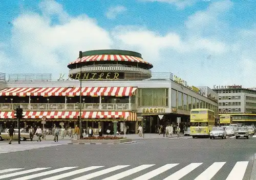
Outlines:
[[74,62],[69,63],[70,64],[76,64],[80,62],[89,62],[89,61],[127,61],[127,62],[137,62],[137,63],[145,63],[150,64],[146,61],[144,61],[141,58],[135,57],[135,56],[127,56],[127,55],[93,55],[93,56],[84,56],[82,57],[82,60],[79,58],[75,60]]

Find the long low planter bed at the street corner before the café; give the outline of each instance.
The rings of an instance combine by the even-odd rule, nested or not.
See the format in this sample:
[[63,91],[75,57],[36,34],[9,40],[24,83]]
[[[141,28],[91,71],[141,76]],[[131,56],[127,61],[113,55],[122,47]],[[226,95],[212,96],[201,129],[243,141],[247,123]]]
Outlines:
[[72,140],[72,143],[125,143],[125,142],[132,142],[132,139],[79,139],[79,140]]

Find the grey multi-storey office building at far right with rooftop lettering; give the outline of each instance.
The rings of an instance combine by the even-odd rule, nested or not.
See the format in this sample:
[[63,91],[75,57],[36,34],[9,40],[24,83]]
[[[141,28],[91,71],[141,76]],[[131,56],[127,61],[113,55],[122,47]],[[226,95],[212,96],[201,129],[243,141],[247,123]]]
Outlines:
[[213,89],[219,96],[219,115],[232,115],[234,122],[256,123],[256,91],[242,86],[220,86]]

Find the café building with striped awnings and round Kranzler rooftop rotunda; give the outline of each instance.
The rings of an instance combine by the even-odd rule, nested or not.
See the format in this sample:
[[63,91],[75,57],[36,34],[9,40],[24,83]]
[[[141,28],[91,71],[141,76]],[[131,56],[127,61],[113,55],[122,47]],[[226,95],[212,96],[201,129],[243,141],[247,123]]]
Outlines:
[[153,65],[136,52],[83,52],[68,67],[68,76],[61,74],[57,81],[44,74],[39,78],[9,75],[0,87],[0,123],[13,123],[13,110],[18,106],[24,109],[24,126],[42,120],[47,127],[74,126],[81,107],[84,128],[107,130],[113,128],[112,121],[119,121],[119,131],[125,122],[130,133],[137,133],[142,123],[147,133],[156,132],[160,124],[176,123],[177,117],[188,123],[194,108],[208,108],[218,115],[217,93],[208,87],[190,87],[172,73],[152,73]]

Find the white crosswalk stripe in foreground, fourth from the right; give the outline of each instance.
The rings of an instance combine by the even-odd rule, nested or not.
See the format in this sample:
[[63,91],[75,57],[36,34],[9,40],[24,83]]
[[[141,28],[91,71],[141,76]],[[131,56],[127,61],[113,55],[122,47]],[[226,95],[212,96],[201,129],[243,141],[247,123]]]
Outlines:
[[153,178],[153,177],[155,177],[155,176],[157,176],[157,175],[159,175],[159,174],[161,174],[161,173],[163,173],[163,172],[165,172],[165,171],[167,171],[167,170],[169,170],[169,169],[171,169],[171,168],[173,168],[177,165],[178,164],[166,164],[166,165],[164,165],[160,168],[157,168],[157,169],[155,169],[151,172],[143,174],[143,175],[141,175],[141,176],[139,176],[139,177],[137,177],[133,180],[148,180],[148,179],[151,179],[151,178]]

